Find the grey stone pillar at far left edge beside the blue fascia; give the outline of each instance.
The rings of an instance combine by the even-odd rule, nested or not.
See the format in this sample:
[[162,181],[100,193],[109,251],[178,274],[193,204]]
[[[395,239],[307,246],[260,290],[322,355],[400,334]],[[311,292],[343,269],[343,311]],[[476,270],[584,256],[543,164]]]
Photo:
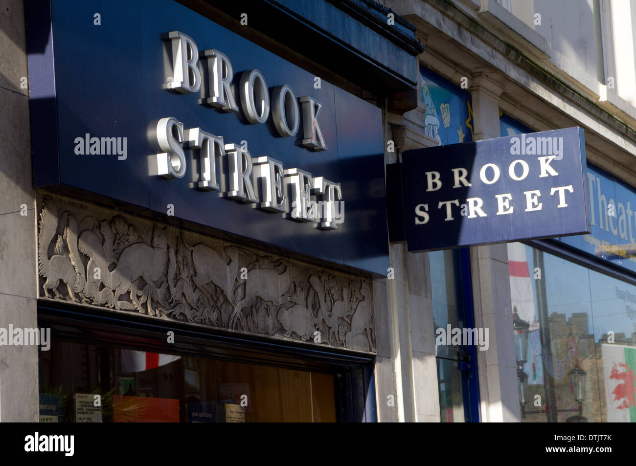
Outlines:
[[[3,4],[0,31],[0,328],[8,330],[38,326],[24,2]],[[0,421],[38,421],[38,392],[38,347],[0,346]]]

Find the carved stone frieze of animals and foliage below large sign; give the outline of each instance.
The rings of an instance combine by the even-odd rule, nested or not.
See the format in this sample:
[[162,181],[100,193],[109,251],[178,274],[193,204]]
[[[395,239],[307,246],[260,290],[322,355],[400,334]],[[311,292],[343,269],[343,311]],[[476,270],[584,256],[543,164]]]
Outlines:
[[375,352],[371,280],[39,195],[38,296]]

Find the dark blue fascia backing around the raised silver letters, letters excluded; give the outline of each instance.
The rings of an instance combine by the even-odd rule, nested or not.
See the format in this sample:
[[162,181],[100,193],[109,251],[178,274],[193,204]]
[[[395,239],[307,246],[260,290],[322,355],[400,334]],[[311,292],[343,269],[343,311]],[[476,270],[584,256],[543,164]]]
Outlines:
[[[38,8],[43,5],[46,2]],[[29,8],[27,5],[27,18]],[[41,24],[27,24],[29,71],[42,89],[31,95],[34,142],[38,134],[47,136],[46,144],[37,150],[34,144],[36,186],[80,189],[121,202],[128,210],[166,214],[167,205],[172,204],[174,216],[185,221],[336,264],[386,273],[384,143],[378,107],[324,80],[315,89],[313,74],[174,1],[87,4],[53,0],[46,8],[52,11],[53,46]],[[101,15],[100,25],[93,24],[95,12]],[[242,71],[258,69],[270,92],[274,86],[287,84],[297,97],[310,95],[324,104],[319,123],[328,150],[313,152],[302,147],[302,128],[295,140],[282,138],[275,133],[271,117],[265,124],[251,125],[242,111],[221,113],[202,106],[198,103],[201,93],[163,89],[169,42],[162,41],[161,35],[169,31],[188,34],[199,50],[214,48],[228,55],[233,83],[238,83]],[[207,88],[207,83],[202,87]],[[233,91],[240,108],[236,85]],[[41,107],[48,113],[39,113]],[[285,168],[297,167],[340,182],[345,222],[335,231],[319,230],[313,223],[298,223],[282,214],[221,198],[218,191],[193,189],[190,184],[198,179],[198,151],[185,151],[188,171],[184,178],[150,175],[157,149],[148,130],[160,118],[170,116],[182,121],[186,129],[200,127],[222,135],[226,144],[246,140],[252,158],[267,155],[282,161]],[[52,132],[52,128],[56,130]],[[127,159],[118,160],[116,154],[76,154],[76,138],[85,134],[126,137]],[[315,200],[321,200],[320,196]]]

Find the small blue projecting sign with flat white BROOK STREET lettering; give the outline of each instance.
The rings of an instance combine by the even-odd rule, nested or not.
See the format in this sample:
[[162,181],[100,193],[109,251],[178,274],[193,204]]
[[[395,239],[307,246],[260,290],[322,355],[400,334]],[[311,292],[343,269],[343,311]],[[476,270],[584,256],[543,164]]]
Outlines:
[[402,154],[408,250],[587,233],[581,128]]

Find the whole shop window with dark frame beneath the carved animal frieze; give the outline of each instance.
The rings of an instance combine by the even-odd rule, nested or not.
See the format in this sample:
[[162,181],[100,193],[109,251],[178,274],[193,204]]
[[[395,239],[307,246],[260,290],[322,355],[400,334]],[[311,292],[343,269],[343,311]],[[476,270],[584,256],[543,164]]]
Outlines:
[[179,331],[179,345],[167,350],[156,338],[165,332],[140,336],[135,329],[60,324],[48,315],[39,326],[52,328],[50,349],[39,352],[42,422],[372,420],[364,412],[370,387],[361,365],[339,364],[338,355],[316,360]]

